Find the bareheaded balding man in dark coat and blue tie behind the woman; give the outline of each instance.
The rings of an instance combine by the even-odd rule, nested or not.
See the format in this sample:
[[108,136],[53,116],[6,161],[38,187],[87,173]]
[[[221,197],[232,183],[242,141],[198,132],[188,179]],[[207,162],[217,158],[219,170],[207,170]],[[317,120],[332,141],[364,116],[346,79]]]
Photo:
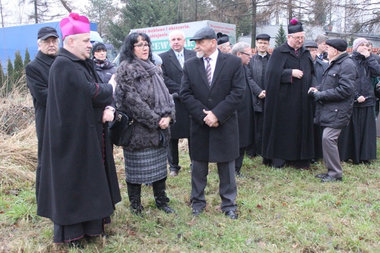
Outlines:
[[[179,94],[182,79],[183,64],[195,57],[196,52],[184,48],[186,39],[183,31],[175,30],[169,33],[170,49],[160,54],[162,58],[162,73],[165,85],[170,94]],[[168,163],[171,176],[177,176],[181,166],[178,157],[178,141],[188,138],[190,134],[190,118],[178,97],[173,98],[175,104],[175,124],[170,127],[170,143],[168,146]],[[189,154],[191,148],[188,141]]]

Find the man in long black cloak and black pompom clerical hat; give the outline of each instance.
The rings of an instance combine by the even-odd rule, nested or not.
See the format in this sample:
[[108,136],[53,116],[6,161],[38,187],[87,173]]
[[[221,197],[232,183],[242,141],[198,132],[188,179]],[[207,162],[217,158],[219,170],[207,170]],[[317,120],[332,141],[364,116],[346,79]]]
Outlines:
[[305,32],[292,19],[287,42],[272,52],[265,72],[263,163],[310,168],[314,157],[313,110],[308,90],[317,86],[309,50],[302,47]]

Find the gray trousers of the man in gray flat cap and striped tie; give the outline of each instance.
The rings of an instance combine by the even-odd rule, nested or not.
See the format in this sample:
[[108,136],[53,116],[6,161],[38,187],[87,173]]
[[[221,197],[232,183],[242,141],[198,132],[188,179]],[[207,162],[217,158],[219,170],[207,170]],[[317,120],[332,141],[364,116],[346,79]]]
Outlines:
[[[192,208],[204,209],[206,207],[205,188],[207,185],[208,161],[192,160],[192,194],[190,201]],[[222,211],[235,211],[237,205],[235,198],[238,189],[235,180],[235,160],[231,162],[216,163],[219,174],[219,195]]]

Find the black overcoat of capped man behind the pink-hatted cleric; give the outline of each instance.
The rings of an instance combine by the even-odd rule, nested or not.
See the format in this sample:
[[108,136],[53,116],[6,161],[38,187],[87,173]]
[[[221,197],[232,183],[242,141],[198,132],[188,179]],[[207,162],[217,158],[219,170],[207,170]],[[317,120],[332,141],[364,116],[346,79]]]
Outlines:
[[37,134],[37,170],[35,176],[35,196],[39,197],[42,144],[44,137],[46,101],[48,99],[49,71],[55,56],[39,51],[35,58],[25,66],[26,84],[33,98],[35,131]]

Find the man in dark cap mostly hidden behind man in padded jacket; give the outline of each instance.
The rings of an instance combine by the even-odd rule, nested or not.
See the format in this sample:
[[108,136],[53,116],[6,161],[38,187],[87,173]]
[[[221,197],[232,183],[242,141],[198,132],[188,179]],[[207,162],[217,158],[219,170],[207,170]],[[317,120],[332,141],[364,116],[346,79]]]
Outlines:
[[[317,57],[318,45],[316,42],[312,40],[305,40],[305,43],[303,43],[303,46],[309,50],[312,56],[312,59],[314,62],[315,78],[317,79],[317,83],[320,84],[322,82],[323,72],[328,67],[328,63]],[[313,117],[314,117],[316,103],[312,101],[312,105],[313,105]],[[310,160],[310,162],[316,163],[319,159],[323,158],[322,129],[321,129],[321,126],[318,124],[314,124],[313,127],[314,127],[314,158]]]

